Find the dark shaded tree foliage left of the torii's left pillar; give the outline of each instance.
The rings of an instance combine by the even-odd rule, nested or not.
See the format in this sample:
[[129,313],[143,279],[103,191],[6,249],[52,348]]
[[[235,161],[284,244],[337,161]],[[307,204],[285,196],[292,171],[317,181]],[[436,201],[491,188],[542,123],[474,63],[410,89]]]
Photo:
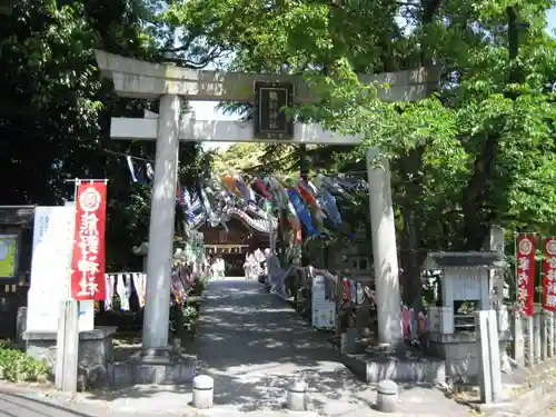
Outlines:
[[[93,48],[161,59],[162,23],[139,0],[21,0],[0,16],[0,203],[58,205],[72,197],[66,180],[108,178],[109,270],[140,267],[131,247],[148,231],[150,190],[131,183],[122,155],[155,156],[152,143],[112,141],[110,117],[157,107],[117,98]],[[183,181],[197,175],[197,152],[181,146]]]

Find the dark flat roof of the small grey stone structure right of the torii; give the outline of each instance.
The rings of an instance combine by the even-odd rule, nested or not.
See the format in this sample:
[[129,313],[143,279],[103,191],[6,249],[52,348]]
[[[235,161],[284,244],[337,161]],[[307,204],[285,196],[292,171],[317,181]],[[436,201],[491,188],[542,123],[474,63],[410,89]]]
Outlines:
[[429,252],[423,269],[502,268],[505,266],[504,254],[497,251]]

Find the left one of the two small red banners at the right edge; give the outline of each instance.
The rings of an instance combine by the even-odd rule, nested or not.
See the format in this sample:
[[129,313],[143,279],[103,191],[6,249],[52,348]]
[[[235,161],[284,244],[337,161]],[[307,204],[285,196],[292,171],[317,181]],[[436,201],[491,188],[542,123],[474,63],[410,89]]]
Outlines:
[[517,308],[527,317],[533,316],[535,297],[535,237],[517,237]]

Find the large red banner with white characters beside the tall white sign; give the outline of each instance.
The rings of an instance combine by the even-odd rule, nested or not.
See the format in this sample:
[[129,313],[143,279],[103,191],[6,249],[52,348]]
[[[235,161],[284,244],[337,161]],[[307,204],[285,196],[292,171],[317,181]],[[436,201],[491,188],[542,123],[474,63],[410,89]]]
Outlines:
[[105,300],[106,182],[81,182],[76,196],[71,297]]

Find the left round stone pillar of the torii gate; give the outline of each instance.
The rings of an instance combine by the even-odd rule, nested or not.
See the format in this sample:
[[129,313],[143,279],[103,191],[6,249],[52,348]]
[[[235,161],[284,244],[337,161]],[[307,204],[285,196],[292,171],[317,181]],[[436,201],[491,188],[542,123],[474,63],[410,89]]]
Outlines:
[[150,207],[149,249],[142,346],[147,350],[168,348],[171,257],[176,215],[180,99],[160,98],[155,180]]

